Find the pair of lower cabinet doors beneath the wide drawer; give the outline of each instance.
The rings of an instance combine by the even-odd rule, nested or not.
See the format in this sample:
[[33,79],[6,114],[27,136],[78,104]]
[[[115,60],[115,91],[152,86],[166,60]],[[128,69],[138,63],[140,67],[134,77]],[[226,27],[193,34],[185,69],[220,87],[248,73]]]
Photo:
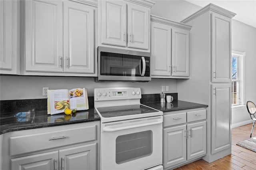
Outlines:
[[12,170],[95,170],[96,143],[11,160]]

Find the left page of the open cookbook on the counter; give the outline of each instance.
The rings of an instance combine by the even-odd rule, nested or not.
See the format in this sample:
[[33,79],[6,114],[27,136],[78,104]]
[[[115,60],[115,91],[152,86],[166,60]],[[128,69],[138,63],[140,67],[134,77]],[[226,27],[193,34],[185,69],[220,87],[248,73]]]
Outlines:
[[64,113],[66,108],[70,108],[68,89],[48,90],[47,99],[48,114],[54,115]]

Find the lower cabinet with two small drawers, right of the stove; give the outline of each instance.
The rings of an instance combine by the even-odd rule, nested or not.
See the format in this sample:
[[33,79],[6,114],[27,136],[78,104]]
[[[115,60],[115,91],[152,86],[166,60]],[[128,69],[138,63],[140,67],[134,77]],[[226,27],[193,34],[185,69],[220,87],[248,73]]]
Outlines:
[[205,109],[167,112],[164,115],[164,169],[186,164],[186,161],[206,154],[205,119]]

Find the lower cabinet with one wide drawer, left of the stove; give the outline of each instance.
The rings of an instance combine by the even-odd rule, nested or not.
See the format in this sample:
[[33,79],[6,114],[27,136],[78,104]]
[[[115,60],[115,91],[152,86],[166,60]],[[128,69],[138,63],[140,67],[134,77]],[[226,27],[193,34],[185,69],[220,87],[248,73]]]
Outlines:
[[[2,134],[3,170],[98,170],[99,121]],[[4,147],[3,147],[4,146]]]

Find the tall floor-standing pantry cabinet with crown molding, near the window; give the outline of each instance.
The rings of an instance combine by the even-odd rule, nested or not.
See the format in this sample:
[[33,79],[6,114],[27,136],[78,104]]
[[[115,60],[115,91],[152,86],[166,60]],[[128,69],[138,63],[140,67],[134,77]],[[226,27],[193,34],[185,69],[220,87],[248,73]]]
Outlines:
[[231,154],[231,18],[209,4],[184,19],[190,30],[190,79],[178,80],[179,99],[207,108],[207,154],[212,162]]

